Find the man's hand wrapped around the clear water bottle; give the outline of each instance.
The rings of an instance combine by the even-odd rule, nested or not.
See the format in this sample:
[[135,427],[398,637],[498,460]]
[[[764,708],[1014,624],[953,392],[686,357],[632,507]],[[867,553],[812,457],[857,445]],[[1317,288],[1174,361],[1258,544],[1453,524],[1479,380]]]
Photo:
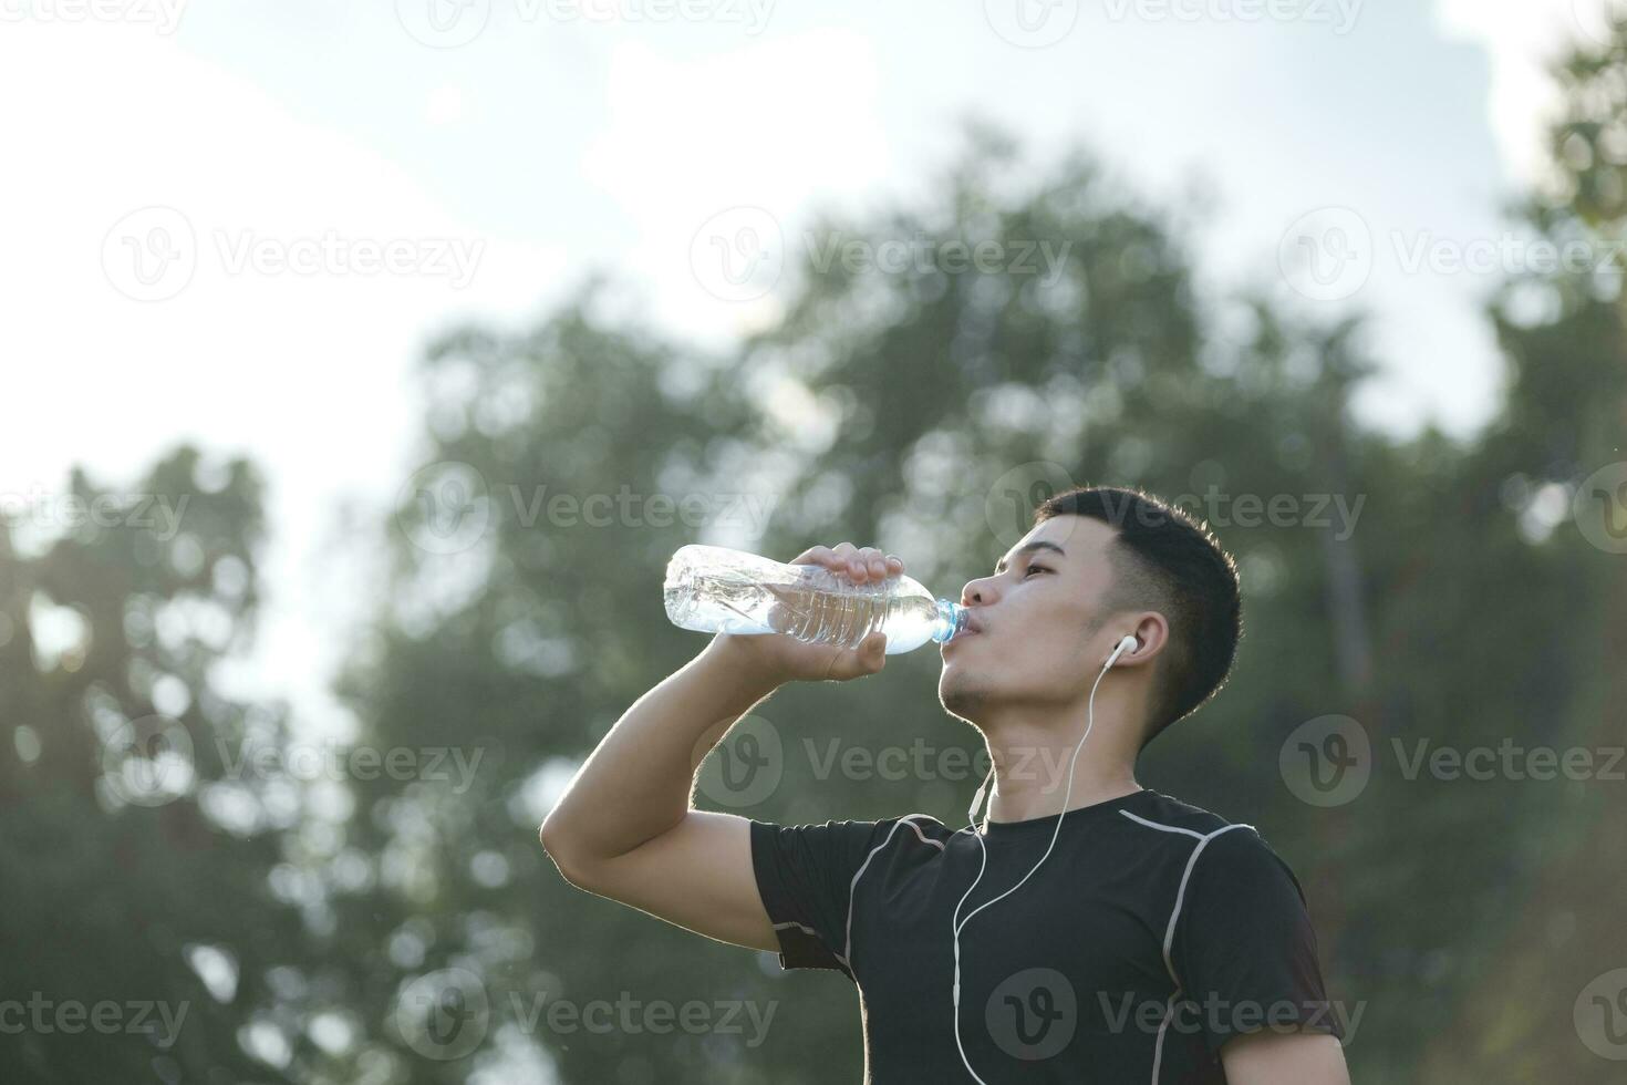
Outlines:
[[[905,563],[883,555],[875,547],[810,547],[791,564],[814,564],[846,576],[854,584],[869,584],[905,571]],[[830,644],[805,644],[784,633],[731,634],[719,633],[706,649],[727,657],[763,682],[848,682],[874,675],[887,665],[887,636],[870,633],[857,647],[833,647]]]

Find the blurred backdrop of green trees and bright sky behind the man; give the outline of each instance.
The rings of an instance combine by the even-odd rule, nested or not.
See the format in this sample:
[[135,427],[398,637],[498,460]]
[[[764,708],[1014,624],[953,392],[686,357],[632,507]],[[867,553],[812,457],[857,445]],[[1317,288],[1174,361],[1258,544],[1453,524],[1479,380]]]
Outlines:
[[[952,595],[1103,483],[1240,561],[1139,778],[1293,867],[1355,1080],[1622,1080],[1620,15],[5,3],[0,1077],[857,1080],[537,825],[680,545]],[[936,677],[698,804],[958,818]]]

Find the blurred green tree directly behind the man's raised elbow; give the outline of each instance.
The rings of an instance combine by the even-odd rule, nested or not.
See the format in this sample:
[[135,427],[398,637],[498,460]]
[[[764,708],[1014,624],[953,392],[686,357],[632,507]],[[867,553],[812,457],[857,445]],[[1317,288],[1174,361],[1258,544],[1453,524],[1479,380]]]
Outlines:
[[665,621],[649,571],[691,538],[687,521],[727,511],[732,486],[713,480],[745,454],[729,374],[635,329],[600,327],[595,293],[532,333],[472,330],[430,351],[426,382],[462,392],[434,395],[426,467],[392,529],[392,605],[342,683],[364,745],[451,745],[478,765],[465,791],[356,786],[364,817],[350,833],[382,856],[381,891],[342,901],[342,961],[387,958],[353,973],[347,1000],[399,1030],[379,994],[460,970],[491,1007],[486,1054],[470,1062],[405,1036],[392,1056],[399,1080],[460,1082],[478,1064],[513,1075],[547,1056],[568,1080],[678,1080],[687,1069],[687,1080],[726,1082],[731,1064],[745,1074],[747,1052],[727,1038],[550,1033],[552,1018],[537,1017],[622,992],[709,1004],[761,983],[750,955],[568,887],[537,844],[539,795],[561,782],[550,758],[589,748],[651,675],[695,647]]

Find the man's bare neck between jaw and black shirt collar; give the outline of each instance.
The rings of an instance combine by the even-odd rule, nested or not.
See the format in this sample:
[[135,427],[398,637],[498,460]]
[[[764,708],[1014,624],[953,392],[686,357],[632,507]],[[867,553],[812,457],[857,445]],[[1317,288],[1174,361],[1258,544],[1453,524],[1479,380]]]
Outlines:
[[[991,821],[1030,821],[1141,791],[1136,782],[1134,735],[1121,726],[1121,706],[1097,698],[1095,726],[1085,735],[1085,708],[1009,709],[979,722],[994,758]],[[1072,765],[1072,792],[1069,792]]]

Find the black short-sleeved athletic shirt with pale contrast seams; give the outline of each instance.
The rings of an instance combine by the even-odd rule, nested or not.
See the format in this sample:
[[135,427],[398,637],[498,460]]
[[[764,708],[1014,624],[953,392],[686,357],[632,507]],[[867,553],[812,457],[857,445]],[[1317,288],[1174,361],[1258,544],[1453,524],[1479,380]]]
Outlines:
[[[960,909],[1015,885],[1056,817],[989,821]],[[911,813],[752,821],[783,968],[859,987],[866,1082],[970,1082],[955,1046],[950,916],[978,839]],[[1346,1035],[1305,895],[1250,825],[1144,789],[1069,810],[1045,865],[960,935],[960,1043],[989,1085],[1225,1082],[1220,1046],[1298,1023]]]

